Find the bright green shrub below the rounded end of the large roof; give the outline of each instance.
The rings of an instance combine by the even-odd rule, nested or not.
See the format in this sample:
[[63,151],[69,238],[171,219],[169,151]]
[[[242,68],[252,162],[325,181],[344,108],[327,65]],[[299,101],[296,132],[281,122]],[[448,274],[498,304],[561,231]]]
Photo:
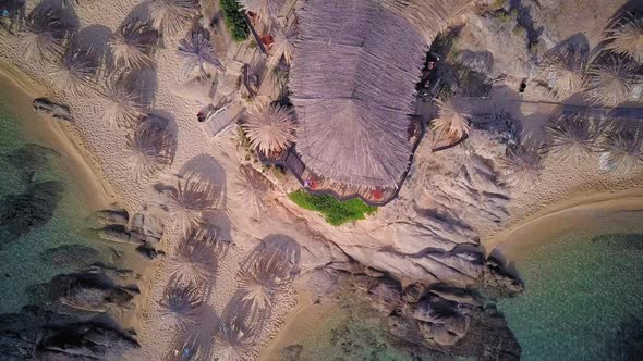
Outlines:
[[376,207],[368,206],[356,198],[341,202],[330,196],[311,195],[303,189],[291,192],[288,198],[303,209],[324,214],[326,222],[333,226],[364,220],[365,214],[377,211]]

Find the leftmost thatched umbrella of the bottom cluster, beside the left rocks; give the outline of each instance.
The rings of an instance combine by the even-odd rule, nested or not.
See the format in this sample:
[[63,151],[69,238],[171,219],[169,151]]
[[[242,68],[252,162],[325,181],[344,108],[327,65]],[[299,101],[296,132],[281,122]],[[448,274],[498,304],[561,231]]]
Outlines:
[[163,320],[185,331],[189,325],[197,323],[202,304],[199,288],[194,284],[182,285],[171,279],[158,304]]

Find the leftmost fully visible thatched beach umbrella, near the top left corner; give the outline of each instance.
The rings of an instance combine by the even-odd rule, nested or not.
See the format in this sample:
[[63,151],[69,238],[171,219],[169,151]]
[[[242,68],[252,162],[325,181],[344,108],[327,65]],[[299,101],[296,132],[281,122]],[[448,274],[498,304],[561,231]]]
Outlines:
[[27,59],[52,59],[63,52],[68,27],[53,8],[34,9],[21,32],[22,48]]

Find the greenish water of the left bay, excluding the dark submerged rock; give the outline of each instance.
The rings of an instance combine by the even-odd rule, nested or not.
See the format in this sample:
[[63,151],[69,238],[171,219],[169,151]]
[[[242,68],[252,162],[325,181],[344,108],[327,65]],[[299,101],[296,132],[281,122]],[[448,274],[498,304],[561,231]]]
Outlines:
[[[81,188],[70,175],[69,164],[62,155],[48,149],[50,145],[29,133],[26,122],[35,120],[12,113],[7,101],[0,96],[0,202],[7,204],[8,195],[25,192],[31,183],[60,182],[63,191],[46,224],[31,228],[17,239],[0,233],[0,313],[15,312],[26,304],[28,286],[73,271],[74,264],[57,266],[45,262],[41,253],[46,249],[80,244],[107,252],[86,228],[86,217],[92,210],[85,206],[85,195],[77,190]],[[31,151],[25,151],[25,147]]]

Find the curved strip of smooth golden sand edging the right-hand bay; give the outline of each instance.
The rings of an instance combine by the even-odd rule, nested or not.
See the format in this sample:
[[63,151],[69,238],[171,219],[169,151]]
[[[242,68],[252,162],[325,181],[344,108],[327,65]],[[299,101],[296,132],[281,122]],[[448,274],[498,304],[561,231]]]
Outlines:
[[[634,220],[617,213],[632,212],[629,215],[635,216],[636,211],[643,212],[642,189],[579,195],[485,237],[481,244],[487,254],[499,252],[498,256],[506,261],[515,261],[529,253],[529,250],[551,241],[554,237],[567,231],[582,227],[589,232],[599,227],[605,217],[618,215],[620,223],[634,224]],[[642,213],[639,213],[639,219],[642,216]],[[615,222],[619,223],[619,220]]]

